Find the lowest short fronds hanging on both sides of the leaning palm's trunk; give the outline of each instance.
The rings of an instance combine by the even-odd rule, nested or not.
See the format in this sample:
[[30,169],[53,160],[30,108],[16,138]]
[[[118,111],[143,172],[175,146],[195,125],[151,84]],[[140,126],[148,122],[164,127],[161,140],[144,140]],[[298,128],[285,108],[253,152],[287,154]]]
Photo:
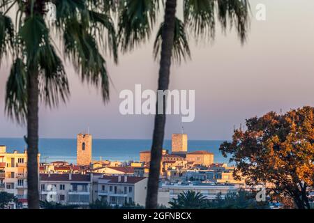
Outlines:
[[[154,43],[154,58],[158,59],[160,56],[161,45],[163,43],[163,27],[164,23],[160,24],[156,40]],[[190,47],[188,46],[188,38],[186,36],[186,28],[184,22],[181,22],[176,17],[174,25],[174,44],[172,48],[172,60],[181,63],[182,59],[190,58]]]

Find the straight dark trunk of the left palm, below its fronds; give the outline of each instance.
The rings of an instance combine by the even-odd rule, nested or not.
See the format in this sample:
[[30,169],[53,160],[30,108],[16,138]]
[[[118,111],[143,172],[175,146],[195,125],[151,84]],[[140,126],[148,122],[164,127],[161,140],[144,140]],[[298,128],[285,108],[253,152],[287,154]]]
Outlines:
[[27,84],[27,199],[30,209],[39,208],[38,97],[38,72],[32,72]]

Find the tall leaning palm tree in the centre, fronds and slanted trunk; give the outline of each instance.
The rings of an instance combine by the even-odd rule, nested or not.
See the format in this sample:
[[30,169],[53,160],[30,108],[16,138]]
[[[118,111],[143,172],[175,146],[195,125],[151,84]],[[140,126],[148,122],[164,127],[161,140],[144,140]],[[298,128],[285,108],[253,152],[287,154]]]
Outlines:
[[[164,1],[161,1],[164,3]],[[133,49],[147,40],[156,21],[160,1],[124,0],[119,10],[119,43],[122,49]],[[216,20],[223,31],[234,26],[244,43],[249,24],[248,0],[184,0],[184,21],[175,17],[177,0],[165,0],[165,17],[154,44],[154,56],[160,55],[158,90],[167,90],[170,82],[170,66],[190,56],[186,33],[195,38],[214,40]],[[165,98],[164,98],[165,103]],[[158,105],[156,105],[158,107]],[[165,104],[164,104],[165,109]],[[156,114],[146,208],[157,208],[160,160],[165,132],[165,112]]]

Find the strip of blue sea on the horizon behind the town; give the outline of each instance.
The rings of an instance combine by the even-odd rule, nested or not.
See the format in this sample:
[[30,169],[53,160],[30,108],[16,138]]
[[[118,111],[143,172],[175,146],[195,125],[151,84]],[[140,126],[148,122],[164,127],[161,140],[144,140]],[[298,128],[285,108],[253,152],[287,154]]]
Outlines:
[[[223,141],[218,140],[189,140],[188,152],[209,151],[214,153],[214,162],[228,162],[219,152],[219,146]],[[26,144],[24,139],[0,138],[0,145],[5,145],[8,152],[24,151]],[[171,152],[171,140],[165,140],[163,147]],[[93,139],[93,160],[140,160],[140,151],[151,148],[149,139]],[[40,162],[52,162],[56,160],[76,163],[76,139],[40,139]]]

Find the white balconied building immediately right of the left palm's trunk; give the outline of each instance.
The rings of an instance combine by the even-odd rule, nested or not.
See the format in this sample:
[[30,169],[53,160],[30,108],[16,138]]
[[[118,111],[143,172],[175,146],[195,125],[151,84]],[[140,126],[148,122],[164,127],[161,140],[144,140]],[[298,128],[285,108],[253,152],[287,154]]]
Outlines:
[[40,174],[40,200],[89,206],[91,183],[89,174]]

